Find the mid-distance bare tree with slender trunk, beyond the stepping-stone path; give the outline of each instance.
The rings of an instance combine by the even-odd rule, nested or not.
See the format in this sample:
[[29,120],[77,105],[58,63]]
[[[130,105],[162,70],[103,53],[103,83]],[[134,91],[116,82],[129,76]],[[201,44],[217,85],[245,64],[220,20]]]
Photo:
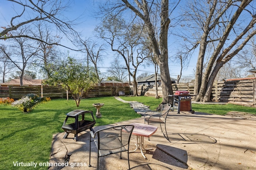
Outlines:
[[112,51],[124,59],[127,70],[133,78],[134,96],[138,96],[136,81],[138,66],[149,55],[148,49],[140,43],[141,37],[138,34],[141,29],[141,26],[137,24],[128,27],[124,19],[111,14],[104,19],[102,25],[96,28],[99,36],[111,46]]

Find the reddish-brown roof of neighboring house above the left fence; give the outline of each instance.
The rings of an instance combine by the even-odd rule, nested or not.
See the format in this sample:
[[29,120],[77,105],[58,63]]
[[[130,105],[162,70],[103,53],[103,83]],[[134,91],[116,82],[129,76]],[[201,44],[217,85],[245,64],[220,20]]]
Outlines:
[[[43,80],[23,80],[23,86],[41,86]],[[0,84],[1,87],[20,86],[20,79],[12,79]]]

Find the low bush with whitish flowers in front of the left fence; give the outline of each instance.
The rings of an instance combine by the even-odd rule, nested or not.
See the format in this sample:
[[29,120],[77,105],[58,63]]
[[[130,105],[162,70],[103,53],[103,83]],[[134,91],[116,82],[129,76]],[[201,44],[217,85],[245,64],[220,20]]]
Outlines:
[[46,100],[46,98],[44,97],[41,98],[36,94],[28,94],[26,96],[23,96],[21,99],[13,102],[12,106],[16,106],[22,111],[28,112],[32,110],[36,105],[49,100],[50,100],[49,98],[47,98]]

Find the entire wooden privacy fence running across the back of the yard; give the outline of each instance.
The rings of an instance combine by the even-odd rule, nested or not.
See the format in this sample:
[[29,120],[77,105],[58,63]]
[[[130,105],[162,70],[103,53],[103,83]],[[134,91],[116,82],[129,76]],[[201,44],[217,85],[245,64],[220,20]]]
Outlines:
[[[26,94],[34,93],[50,98],[66,98],[66,91],[57,86],[11,86],[9,89],[0,89],[0,98],[10,97],[13,99],[22,98]],[[172,89],[188,90],[194,95],[194,83],[172,84]],[[87,97],[118,96],[118,92],[123,91],[125,95],[130,94],[129,87],[122,86],[94,86],[88,91]],[[138,94],[145,96],[155,96],[155,87],[140,86]],[[158,95],[162,97],[162,88],[158,87]],[[68,96],[71,97],[69,93]],[[228,102],[256,106],[256,78],[243,78],[240,80],[216,81],[212,87],[210,100],[212,102]]]

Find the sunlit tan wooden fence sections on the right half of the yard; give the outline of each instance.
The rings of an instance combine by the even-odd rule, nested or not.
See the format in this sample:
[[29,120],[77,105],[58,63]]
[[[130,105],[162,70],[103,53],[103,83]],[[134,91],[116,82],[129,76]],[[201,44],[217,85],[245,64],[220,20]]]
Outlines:
[[[145,96],[155,96],[156,88],[142,87],[138,88],[139,94]],[[194,83],[172,84],[173,92],[176,90],[187,90],[194,95]],[[158,95],[162,97],[162,88],[158,87]],[[210,97],[211,102],[227,102],[232,104],[241,104],[256,106],[256,78],[230,79],[228,81],[215,81],[212,86]]]

